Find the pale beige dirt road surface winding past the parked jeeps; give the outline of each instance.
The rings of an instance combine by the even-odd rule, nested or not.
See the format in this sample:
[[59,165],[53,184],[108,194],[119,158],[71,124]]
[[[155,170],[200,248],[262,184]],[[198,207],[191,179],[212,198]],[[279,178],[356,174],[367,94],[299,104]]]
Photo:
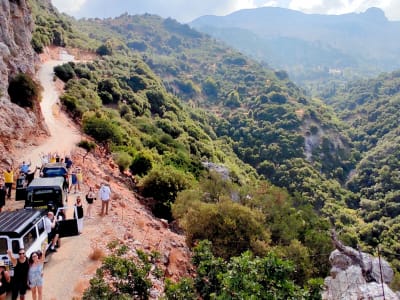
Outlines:
[[[42,153],[58,152],[61,155],[69,154],[76,150],[76,144],[81,140],[81,134],[71,120],[60,111],[58,93],[53,81],[53,68],[65,61],[52,60],[45,62],[38,73],[43,86],[41,109],[50,137],[39,146],[24,149],[20,154],[21,160],[32,162],[32,167],[40,165]],[[77,195],[70,195],[68,203],[73,205]],[[23,206],[22,202],[15,203]],[[96,219],[85,220],[83,234],[76,237],[62,239],[62,246],[57,253],[51,254],[44,270],[44,299],[72,299],[77,297],[80,280],[85,279],[85,269],[96,268],[97,263],[89,260],[91,252],[91,237],[101,234]],[[90,266],[93,265],[92,268]],[[87,280],[87,279],[86,279]],[[30,291],[26,299],[32,299]]]

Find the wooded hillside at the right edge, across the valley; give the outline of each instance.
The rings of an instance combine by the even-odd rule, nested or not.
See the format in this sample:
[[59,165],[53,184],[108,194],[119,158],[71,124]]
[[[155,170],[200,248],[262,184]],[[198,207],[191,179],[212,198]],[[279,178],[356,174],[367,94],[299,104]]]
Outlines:
[[[326,94],[326,101],[351,128],[350,135],[362,159],[347,182],[360,194],[353,203],[370,224],[362,233],[370,245],[384,245],[395,257],[393,241],[399,218],[399,72],[348,83]],[[375,228],[375,229],[372,229]],[[376,228],[379,230],[376,231]],[[371,231],[375,234],[370,236]]]

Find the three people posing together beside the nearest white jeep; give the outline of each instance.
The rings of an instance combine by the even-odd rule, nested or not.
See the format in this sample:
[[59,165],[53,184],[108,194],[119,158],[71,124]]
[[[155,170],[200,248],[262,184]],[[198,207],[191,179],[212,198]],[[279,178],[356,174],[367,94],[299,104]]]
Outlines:
[[25,249],[19,249],[18,258],[13,256],[11,250],[7,250],[7,255],[14,267],[14,275],[10,276],[4,261],[0,260],[0,300],[5,300],[9,291],[12,300],[16,300],[18,295],[23,300],[28,288],[31,289],[33,300],[42,300],[45,252],[34,251],[27,258]]

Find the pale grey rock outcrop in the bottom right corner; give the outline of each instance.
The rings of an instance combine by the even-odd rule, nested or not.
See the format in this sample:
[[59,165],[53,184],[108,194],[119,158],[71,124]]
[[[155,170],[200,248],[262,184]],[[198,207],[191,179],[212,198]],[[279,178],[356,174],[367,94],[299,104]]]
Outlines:
[[393,270],[386,260],[343,245],[335,232],[332,241],[336,250],[329,256],[331,276],[325,278],[323,300],[400,299],[388,286]]

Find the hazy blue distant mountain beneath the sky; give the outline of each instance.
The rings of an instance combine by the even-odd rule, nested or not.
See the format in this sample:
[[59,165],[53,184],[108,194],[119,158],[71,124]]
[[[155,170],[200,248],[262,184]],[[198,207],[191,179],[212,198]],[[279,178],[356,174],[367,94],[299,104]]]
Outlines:
[[298,83],[367,77],[400,68],[400,22],[382,10],[317,15],[263,7],[224,17],[203,16],[190,26],[208,33]]

